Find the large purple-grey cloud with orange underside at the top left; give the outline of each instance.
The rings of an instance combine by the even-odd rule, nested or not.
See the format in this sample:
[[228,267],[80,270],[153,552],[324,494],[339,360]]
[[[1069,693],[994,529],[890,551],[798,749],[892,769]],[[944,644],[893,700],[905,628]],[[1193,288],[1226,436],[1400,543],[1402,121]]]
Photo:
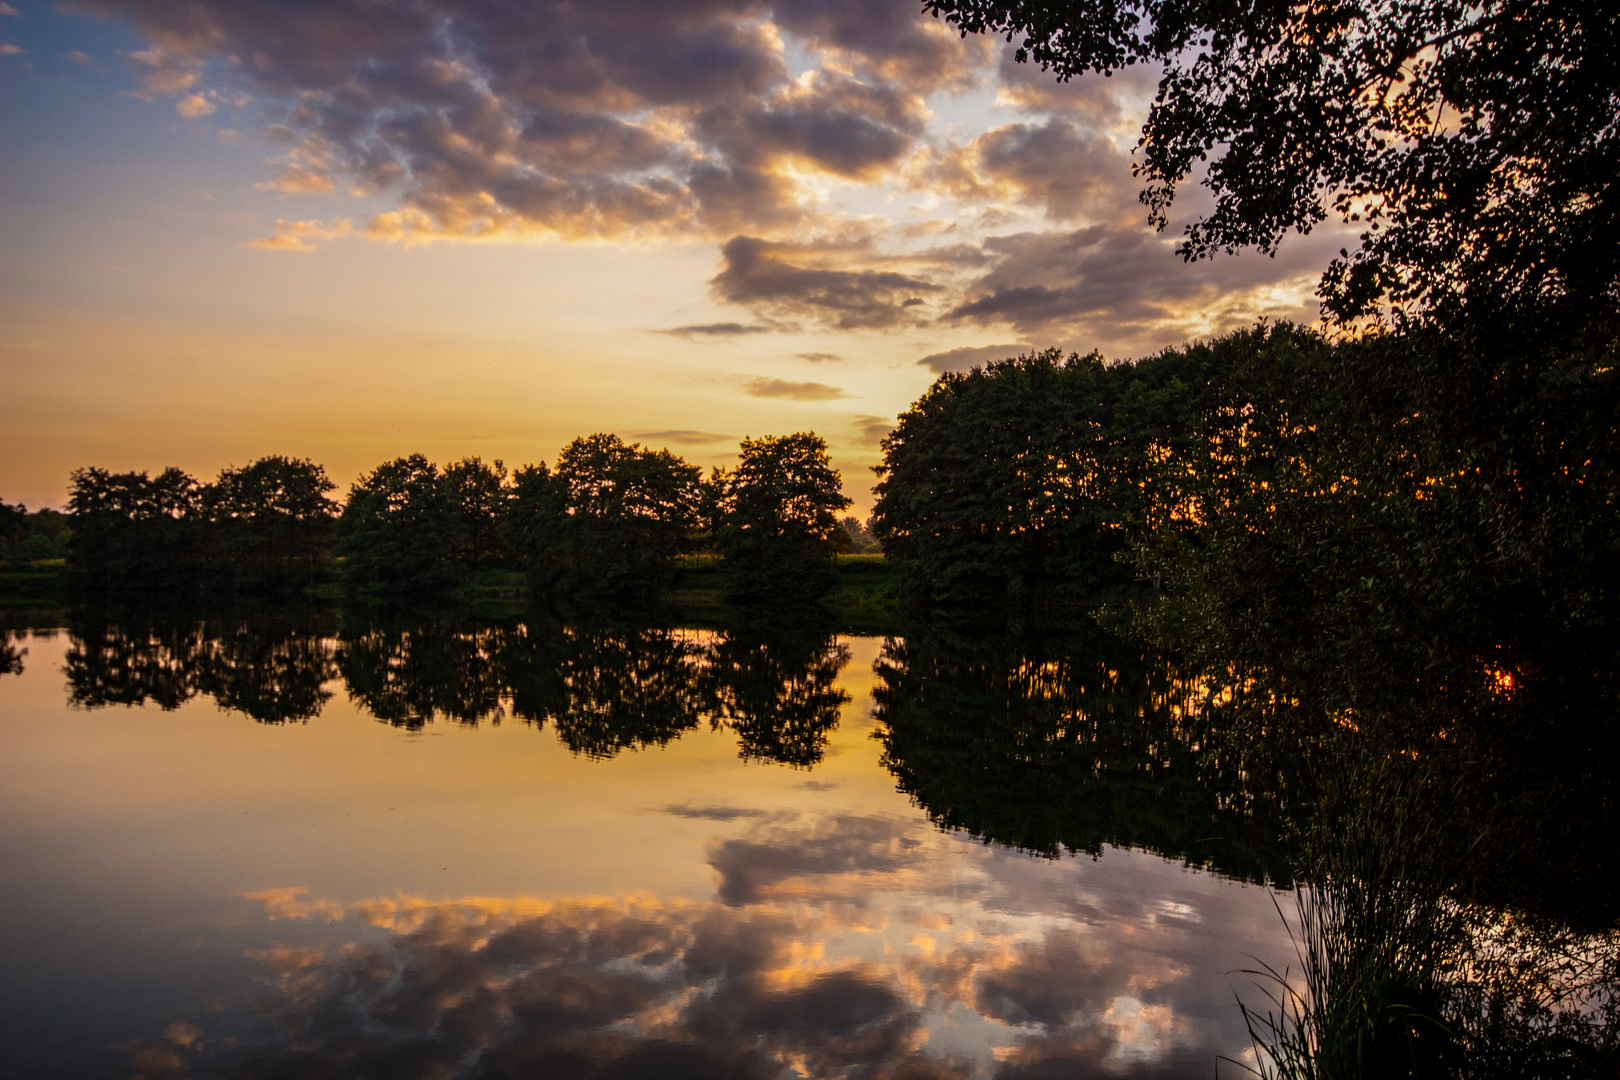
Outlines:
[[[792,228],[815,176],[894,168],[925,134],[923,94],[990,55],[904,0],[86,8],[146,39],[139,96],[207,73],[322,146],[334,186],[387,193],[418,238]],[[288,165],[309,170],[282,162],[279,186]]]

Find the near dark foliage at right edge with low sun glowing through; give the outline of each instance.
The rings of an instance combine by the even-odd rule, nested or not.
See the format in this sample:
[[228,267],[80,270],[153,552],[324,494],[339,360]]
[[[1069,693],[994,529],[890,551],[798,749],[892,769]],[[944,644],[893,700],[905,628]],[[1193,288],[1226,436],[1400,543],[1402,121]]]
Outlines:
[[1609,730],[1620,706],[1620,382],[1571,361],[1516,402],[1435,402],[1455,342],[1228,350],[1207,452],[1174,497],[1196,531],[1142,559],[1160,635],[1233,693],[1440,730]]

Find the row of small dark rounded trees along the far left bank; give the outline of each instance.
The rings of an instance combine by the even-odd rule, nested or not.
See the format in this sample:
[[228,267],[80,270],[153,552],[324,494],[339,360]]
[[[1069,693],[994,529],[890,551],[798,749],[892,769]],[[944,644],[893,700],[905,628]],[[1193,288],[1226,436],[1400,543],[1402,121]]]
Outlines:
[[177,468],[71,476],[68,555],[91,589],[256,591],[335,576],[366,594],[441,593],[478,568],[523,570],[552,593],[643,596],[676,560],[723,559],[739,599],[805,597],[833,555],[873,541],[813,432],[744,439],[734,468],[703,470],[619,436],[575,439],[509,471],[476,457],[386,461],[339,504],[326,470],[267,457],[198,483]]

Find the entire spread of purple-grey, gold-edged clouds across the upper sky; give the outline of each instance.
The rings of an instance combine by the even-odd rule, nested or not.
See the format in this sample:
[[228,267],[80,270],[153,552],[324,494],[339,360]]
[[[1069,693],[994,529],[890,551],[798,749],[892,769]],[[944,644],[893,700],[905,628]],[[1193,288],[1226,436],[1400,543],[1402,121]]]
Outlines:
[[[190,118],[228,104],[233,130],[259,118],[274,149],[262,189],[382,202],[343,233],[719,243],[710,293],[750,314],[667,330],[692,338],[943,316],[1150,348],[1307,314],[1299,282],[1338,246],[1181,264],[1129,172],[1155,70],[1059,84],[914,0],[81,6],[143,37],[136,96]],[[987,83],[1013,123],[935,115]],[[906,220],[873,193],[938,212]],[[287,225],[249,243],[327,238]]]

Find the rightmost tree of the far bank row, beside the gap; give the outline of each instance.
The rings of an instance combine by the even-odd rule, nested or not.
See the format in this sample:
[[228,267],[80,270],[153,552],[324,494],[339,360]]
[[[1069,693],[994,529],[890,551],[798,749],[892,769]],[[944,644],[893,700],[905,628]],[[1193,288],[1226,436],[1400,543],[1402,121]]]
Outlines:
[[719,551],[729,591],[748,599],[815,597],[838,581],[833,559],[849,505],[813,432],[744,439],[742,460],[716,470]]

